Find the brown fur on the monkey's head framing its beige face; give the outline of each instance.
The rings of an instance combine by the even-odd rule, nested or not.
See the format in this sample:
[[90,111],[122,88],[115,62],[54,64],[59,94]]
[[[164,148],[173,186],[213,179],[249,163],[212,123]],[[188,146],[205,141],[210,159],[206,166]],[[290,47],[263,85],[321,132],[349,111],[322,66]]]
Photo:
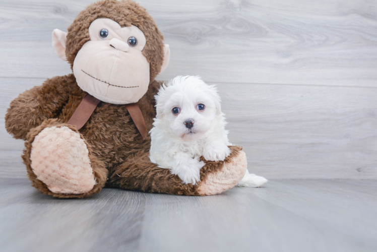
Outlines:
[[138,27],[146,38],[144,56],[149,60],[150,82],[161,72],[164,60],[164,37],[158,30],[153,18],[134,1],[100,1],[82,11],[73,24],[68,27],[66,55],[73,67],[74,60],[81,47],[90,41],[89,26],[96,19],[108,18],[120,27]]

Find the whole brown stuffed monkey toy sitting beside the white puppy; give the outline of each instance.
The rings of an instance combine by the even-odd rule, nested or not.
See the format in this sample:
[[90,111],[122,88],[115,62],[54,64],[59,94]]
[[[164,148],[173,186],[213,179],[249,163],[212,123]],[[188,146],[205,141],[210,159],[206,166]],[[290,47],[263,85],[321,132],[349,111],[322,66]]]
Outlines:
[[57,55],[73,73],[47,79],[13,100],[6,129],[25,141],[31,183],[58,198],[83,198],[104,186],[149,193],[214,195],[233,187],[246,156],[232,146],[225,161],[206,162],[201,181],[183,184],[149,160],[156,115],[155,77],[169,46],[147,11],[133,1],[105,0],[82,11],[68,33],[54,30]]

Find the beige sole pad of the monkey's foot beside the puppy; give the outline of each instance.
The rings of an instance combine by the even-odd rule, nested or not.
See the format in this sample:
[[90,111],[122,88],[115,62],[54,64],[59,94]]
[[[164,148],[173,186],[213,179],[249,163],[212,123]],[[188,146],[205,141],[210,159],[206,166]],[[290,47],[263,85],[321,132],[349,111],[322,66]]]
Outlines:
[[230,162],[224,162],[222,172],[210,173],[207,179],[198,186],[200,195],[221,194],[234,187],[242,179],[247,169],[246,154],[240,151]]

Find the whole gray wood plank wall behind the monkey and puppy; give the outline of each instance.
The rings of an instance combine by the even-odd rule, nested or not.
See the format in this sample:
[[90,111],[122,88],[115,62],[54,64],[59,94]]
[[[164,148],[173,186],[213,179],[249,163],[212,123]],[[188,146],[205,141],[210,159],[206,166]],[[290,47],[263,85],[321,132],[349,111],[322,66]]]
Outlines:
[[[51,47],[93,1],[0,1],[0,177],[25,177],[10,101],[71,73]],[[377,1],[138,1],[171,48],[159,80],[217,84],[230,141],[267,178],[377,178]]]

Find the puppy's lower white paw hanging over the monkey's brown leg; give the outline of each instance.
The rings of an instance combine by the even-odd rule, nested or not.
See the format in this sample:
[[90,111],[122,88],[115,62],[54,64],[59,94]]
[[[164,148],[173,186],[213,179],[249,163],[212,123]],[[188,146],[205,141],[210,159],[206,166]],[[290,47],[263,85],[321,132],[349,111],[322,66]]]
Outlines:
[[200,169],[205,165],[203,161],[198,159],[192,159],[193,162],[187,162],[186,164],[181,164],[178,170],[175,172],[176,175],[185,184],[196,184],[200,181]]

